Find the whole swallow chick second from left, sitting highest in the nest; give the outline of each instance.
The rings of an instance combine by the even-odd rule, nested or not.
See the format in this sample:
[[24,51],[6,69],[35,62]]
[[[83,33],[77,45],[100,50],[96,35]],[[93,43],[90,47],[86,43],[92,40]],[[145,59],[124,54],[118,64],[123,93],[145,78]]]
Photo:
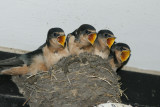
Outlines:
[[68,49],[70,54],[79,55],[83,52],[91,53],[97,38],[96,29],[89,24],[83,24],[68,35]]

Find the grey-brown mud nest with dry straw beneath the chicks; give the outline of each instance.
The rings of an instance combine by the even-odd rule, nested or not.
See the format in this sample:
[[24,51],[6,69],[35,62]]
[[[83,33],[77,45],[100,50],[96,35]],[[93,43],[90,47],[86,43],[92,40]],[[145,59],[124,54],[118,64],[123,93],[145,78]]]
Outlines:
[[92,107],[121,102],[119,76],[99,56],[62,58],[51,71],[13,76],[30,107]]

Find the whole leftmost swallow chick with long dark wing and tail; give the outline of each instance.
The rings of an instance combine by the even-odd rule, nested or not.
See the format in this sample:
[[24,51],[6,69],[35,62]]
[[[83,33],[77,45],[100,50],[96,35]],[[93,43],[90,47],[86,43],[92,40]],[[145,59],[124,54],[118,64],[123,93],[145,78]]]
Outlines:
[[48,71],[62,57],[68,56],[66,36],[61,28],[48,31],[47,40],[42,49],[0,61],[0,67],[9,67],[0,71],[6,75],[34,75],[38,71]]

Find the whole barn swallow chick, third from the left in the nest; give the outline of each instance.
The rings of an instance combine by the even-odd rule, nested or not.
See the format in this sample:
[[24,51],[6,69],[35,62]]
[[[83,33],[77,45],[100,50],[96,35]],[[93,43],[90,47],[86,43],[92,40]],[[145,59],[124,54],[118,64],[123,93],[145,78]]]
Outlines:
[[97,35],[97,39],[93,45],[93,54],[107,59],[110,54],[110,48],[114,44],[116,37],[110,30],[100,30]]

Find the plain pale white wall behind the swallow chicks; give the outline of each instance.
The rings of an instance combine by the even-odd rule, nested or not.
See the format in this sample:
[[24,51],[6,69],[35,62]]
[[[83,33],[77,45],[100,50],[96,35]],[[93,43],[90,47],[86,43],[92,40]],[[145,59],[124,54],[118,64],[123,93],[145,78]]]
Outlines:
[[34,50],[48,29],[66,34],[81,24],[108,28],[130,45],[128,66],[160,70],[160,0],[4,0],[0,3],[0,46]]

